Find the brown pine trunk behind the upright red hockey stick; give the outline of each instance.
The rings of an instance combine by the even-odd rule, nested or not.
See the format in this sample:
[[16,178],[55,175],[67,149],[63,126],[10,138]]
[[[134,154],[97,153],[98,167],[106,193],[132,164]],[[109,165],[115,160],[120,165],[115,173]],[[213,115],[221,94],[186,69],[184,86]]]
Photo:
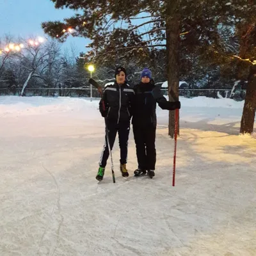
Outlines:
[[[166,54],[168,95],[170,101],[179,100],[179,45],[180,45],[180,13],[179,0],[166,0]],[[174,138],[175,111],[169,111],[169,132]],[[179,134],[179,120],[178,120]]]

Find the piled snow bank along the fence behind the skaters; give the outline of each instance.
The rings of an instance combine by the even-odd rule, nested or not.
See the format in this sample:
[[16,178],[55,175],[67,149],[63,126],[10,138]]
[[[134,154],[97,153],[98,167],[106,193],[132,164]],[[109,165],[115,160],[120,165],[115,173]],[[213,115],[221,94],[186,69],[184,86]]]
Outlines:
[[[166,96],[166,99],[168,97]],[[182,108],[232,108],[243,109],[244,102],[236,102],[232,99],[212,99],[207,97],[195,97],[188,99],[180,97]],[[82,111],[86,117],[95,115],[98,111],[99,99],[90,102],[88,98],[70,97],[0,97],[0,115],[35,115],[44,113],[60,113],[69,111]]]

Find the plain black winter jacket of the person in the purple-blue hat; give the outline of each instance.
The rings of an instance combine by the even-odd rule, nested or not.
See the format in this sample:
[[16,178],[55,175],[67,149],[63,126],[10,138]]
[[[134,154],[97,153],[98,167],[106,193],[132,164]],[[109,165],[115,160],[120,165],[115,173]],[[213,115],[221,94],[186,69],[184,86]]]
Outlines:
[[132,116],[133,125],[154,125],[156,127],[156,102],[161,109],[180,109],[180,102],[170,102],[166,100],[159,87],[156,87],[154,81],[150,83],[140,83],[134,86],[135,100],[134,113]]

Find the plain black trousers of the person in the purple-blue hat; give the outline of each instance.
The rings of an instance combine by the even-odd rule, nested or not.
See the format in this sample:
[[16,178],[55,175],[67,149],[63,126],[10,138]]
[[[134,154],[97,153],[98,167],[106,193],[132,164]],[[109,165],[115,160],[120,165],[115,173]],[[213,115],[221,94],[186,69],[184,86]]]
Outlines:
[[156,127],[133,125],[134,141],[138,168],[141,170],[155,170],[156,167]]

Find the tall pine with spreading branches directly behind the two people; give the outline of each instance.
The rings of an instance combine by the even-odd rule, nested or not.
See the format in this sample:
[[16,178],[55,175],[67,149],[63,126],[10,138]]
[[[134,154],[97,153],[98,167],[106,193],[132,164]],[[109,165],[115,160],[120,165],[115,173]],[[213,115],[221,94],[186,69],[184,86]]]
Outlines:
[[[238,8],[244,5],[242,0],[235,3],[229,0],[51,1],[56,3],[56,8],[65,6],[78,13],[65,22],[44,22],[45,33],[60,41],[70,33],[90,38],[91,50],[87,56],[93,62],[122,64],[132,57],[143,62],[150,58],[150,49],[166,48],[165,74],[168,90],[174,92],[175,98],[179,97],[181,47],[185,49],[184,55],[186,51],[198,52],[200,56],[221,55],[216,50],[223,49],[228,42],[224,44],[220,27],[234,28],[236,19],[241,20],[246,10]],[[169,93],[170,100],[172,96]],[[173,111],[170,111],[169,134],[173,138]]]

